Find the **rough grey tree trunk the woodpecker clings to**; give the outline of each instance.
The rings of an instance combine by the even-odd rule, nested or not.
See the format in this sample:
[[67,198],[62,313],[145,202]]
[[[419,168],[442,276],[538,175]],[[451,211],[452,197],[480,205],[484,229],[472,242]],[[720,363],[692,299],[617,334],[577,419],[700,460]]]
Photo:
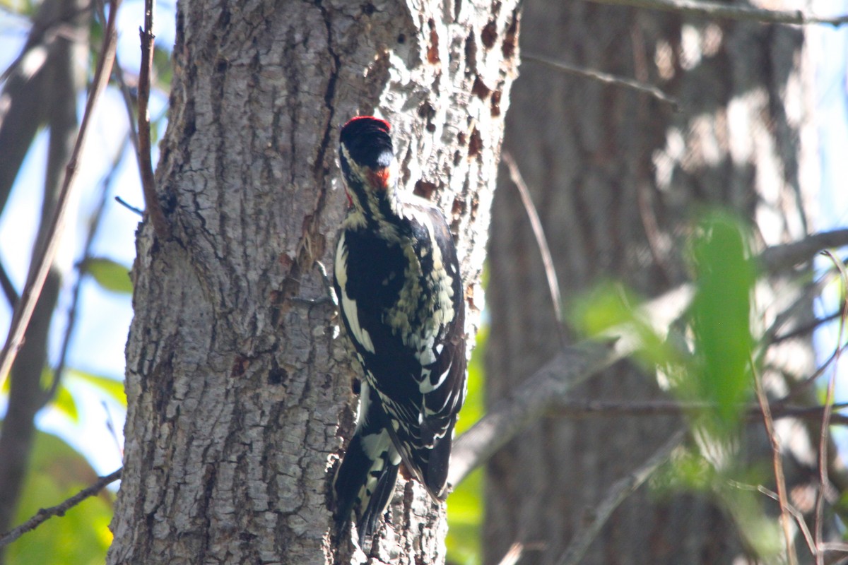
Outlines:
[[[333,308],[292,300],[326,293],[338,126],[392,122],[477,314],[517,23],[516,2],[178,4],[157,172],[173,236],[138,234],[109,563],[365,562],[334,538],[329,494],[355,372]],[[444,533],[400,481],[371,562],[441,562]]]

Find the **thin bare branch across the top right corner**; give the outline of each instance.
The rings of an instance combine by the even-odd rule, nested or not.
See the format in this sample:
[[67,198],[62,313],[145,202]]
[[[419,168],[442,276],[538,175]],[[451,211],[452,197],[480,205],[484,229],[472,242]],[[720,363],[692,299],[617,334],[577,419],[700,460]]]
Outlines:
[[706,16],[707,18],[745,19],[761,24],[830,24],[848,23],[848,15],[822,18],[801,10],[767,10],[745,4],[706,2],[704,0],[589,0],[599,4],[615,4],[632,8],[666,10],[679,14]]

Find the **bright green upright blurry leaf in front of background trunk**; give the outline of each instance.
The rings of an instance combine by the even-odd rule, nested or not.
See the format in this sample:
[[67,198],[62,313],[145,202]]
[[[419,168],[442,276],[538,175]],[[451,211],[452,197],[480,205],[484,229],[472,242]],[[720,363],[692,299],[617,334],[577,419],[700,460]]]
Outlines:
[[692,255],[696,290],[692,301],[695,371],[702,400],[717,404],[725,431],[739,421],[740,403],[751,391],[751,294],[756,268],[741,223],[711,213],[700,224]]

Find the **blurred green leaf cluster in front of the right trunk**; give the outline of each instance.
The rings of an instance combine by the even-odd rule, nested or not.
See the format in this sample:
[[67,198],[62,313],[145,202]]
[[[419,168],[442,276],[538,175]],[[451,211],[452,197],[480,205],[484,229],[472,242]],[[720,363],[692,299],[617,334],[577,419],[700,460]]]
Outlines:
[[678,448],[650,484],[656,496],[680,490],[708,494],[733,518],[745,543],[765,557],[778,555],[782,540],[778,523],[764,511],[765,497],[752,485],[771,483],[771,470],[746,468],[736,457],[741,413],[754,382],[750,321],[757,273],[749,239],[745,224],[728,213],[701,219],[689,246],[694,296],[668,336],[640,318],[644,301],[623,283],[598,285],[579,298],[572,322],[598,338],[627,327],[639,341],[634,358],[650,373],[664,375],[669,392],[681,401],[706,407],[688,414],[696,446]]

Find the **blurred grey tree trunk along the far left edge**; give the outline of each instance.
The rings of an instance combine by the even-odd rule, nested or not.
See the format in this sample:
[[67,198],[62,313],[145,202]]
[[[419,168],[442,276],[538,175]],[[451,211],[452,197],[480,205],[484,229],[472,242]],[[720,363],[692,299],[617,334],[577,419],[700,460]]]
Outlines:
[[[85,84],[90,8],[90,4],[80,0],[42,3],[24,48],[30,56],[27,64],[13,70],[0,93],[0,210],[8,202],[36,131],[45,125],[50,130],[42,213],[32,257],[44,245],[76,140],[76,97]],[[33,53],[40,49],[42,64],[33,68],[32,59],[38,59]],[[76,202],[69,208],[70,233]],[[49,369],[47,352],[53,310],[69,266],[69,259],[58,259],[47,274],[24,344],[9,372],[8,410],[0,431],[0,532],[11,528],[18,508],[36,436],[36,413],[52,400],[59,385],[60,375],[53,375],[53,382],[47,386],[42,377]],[[30,265],[31,270],[36,267]]]

